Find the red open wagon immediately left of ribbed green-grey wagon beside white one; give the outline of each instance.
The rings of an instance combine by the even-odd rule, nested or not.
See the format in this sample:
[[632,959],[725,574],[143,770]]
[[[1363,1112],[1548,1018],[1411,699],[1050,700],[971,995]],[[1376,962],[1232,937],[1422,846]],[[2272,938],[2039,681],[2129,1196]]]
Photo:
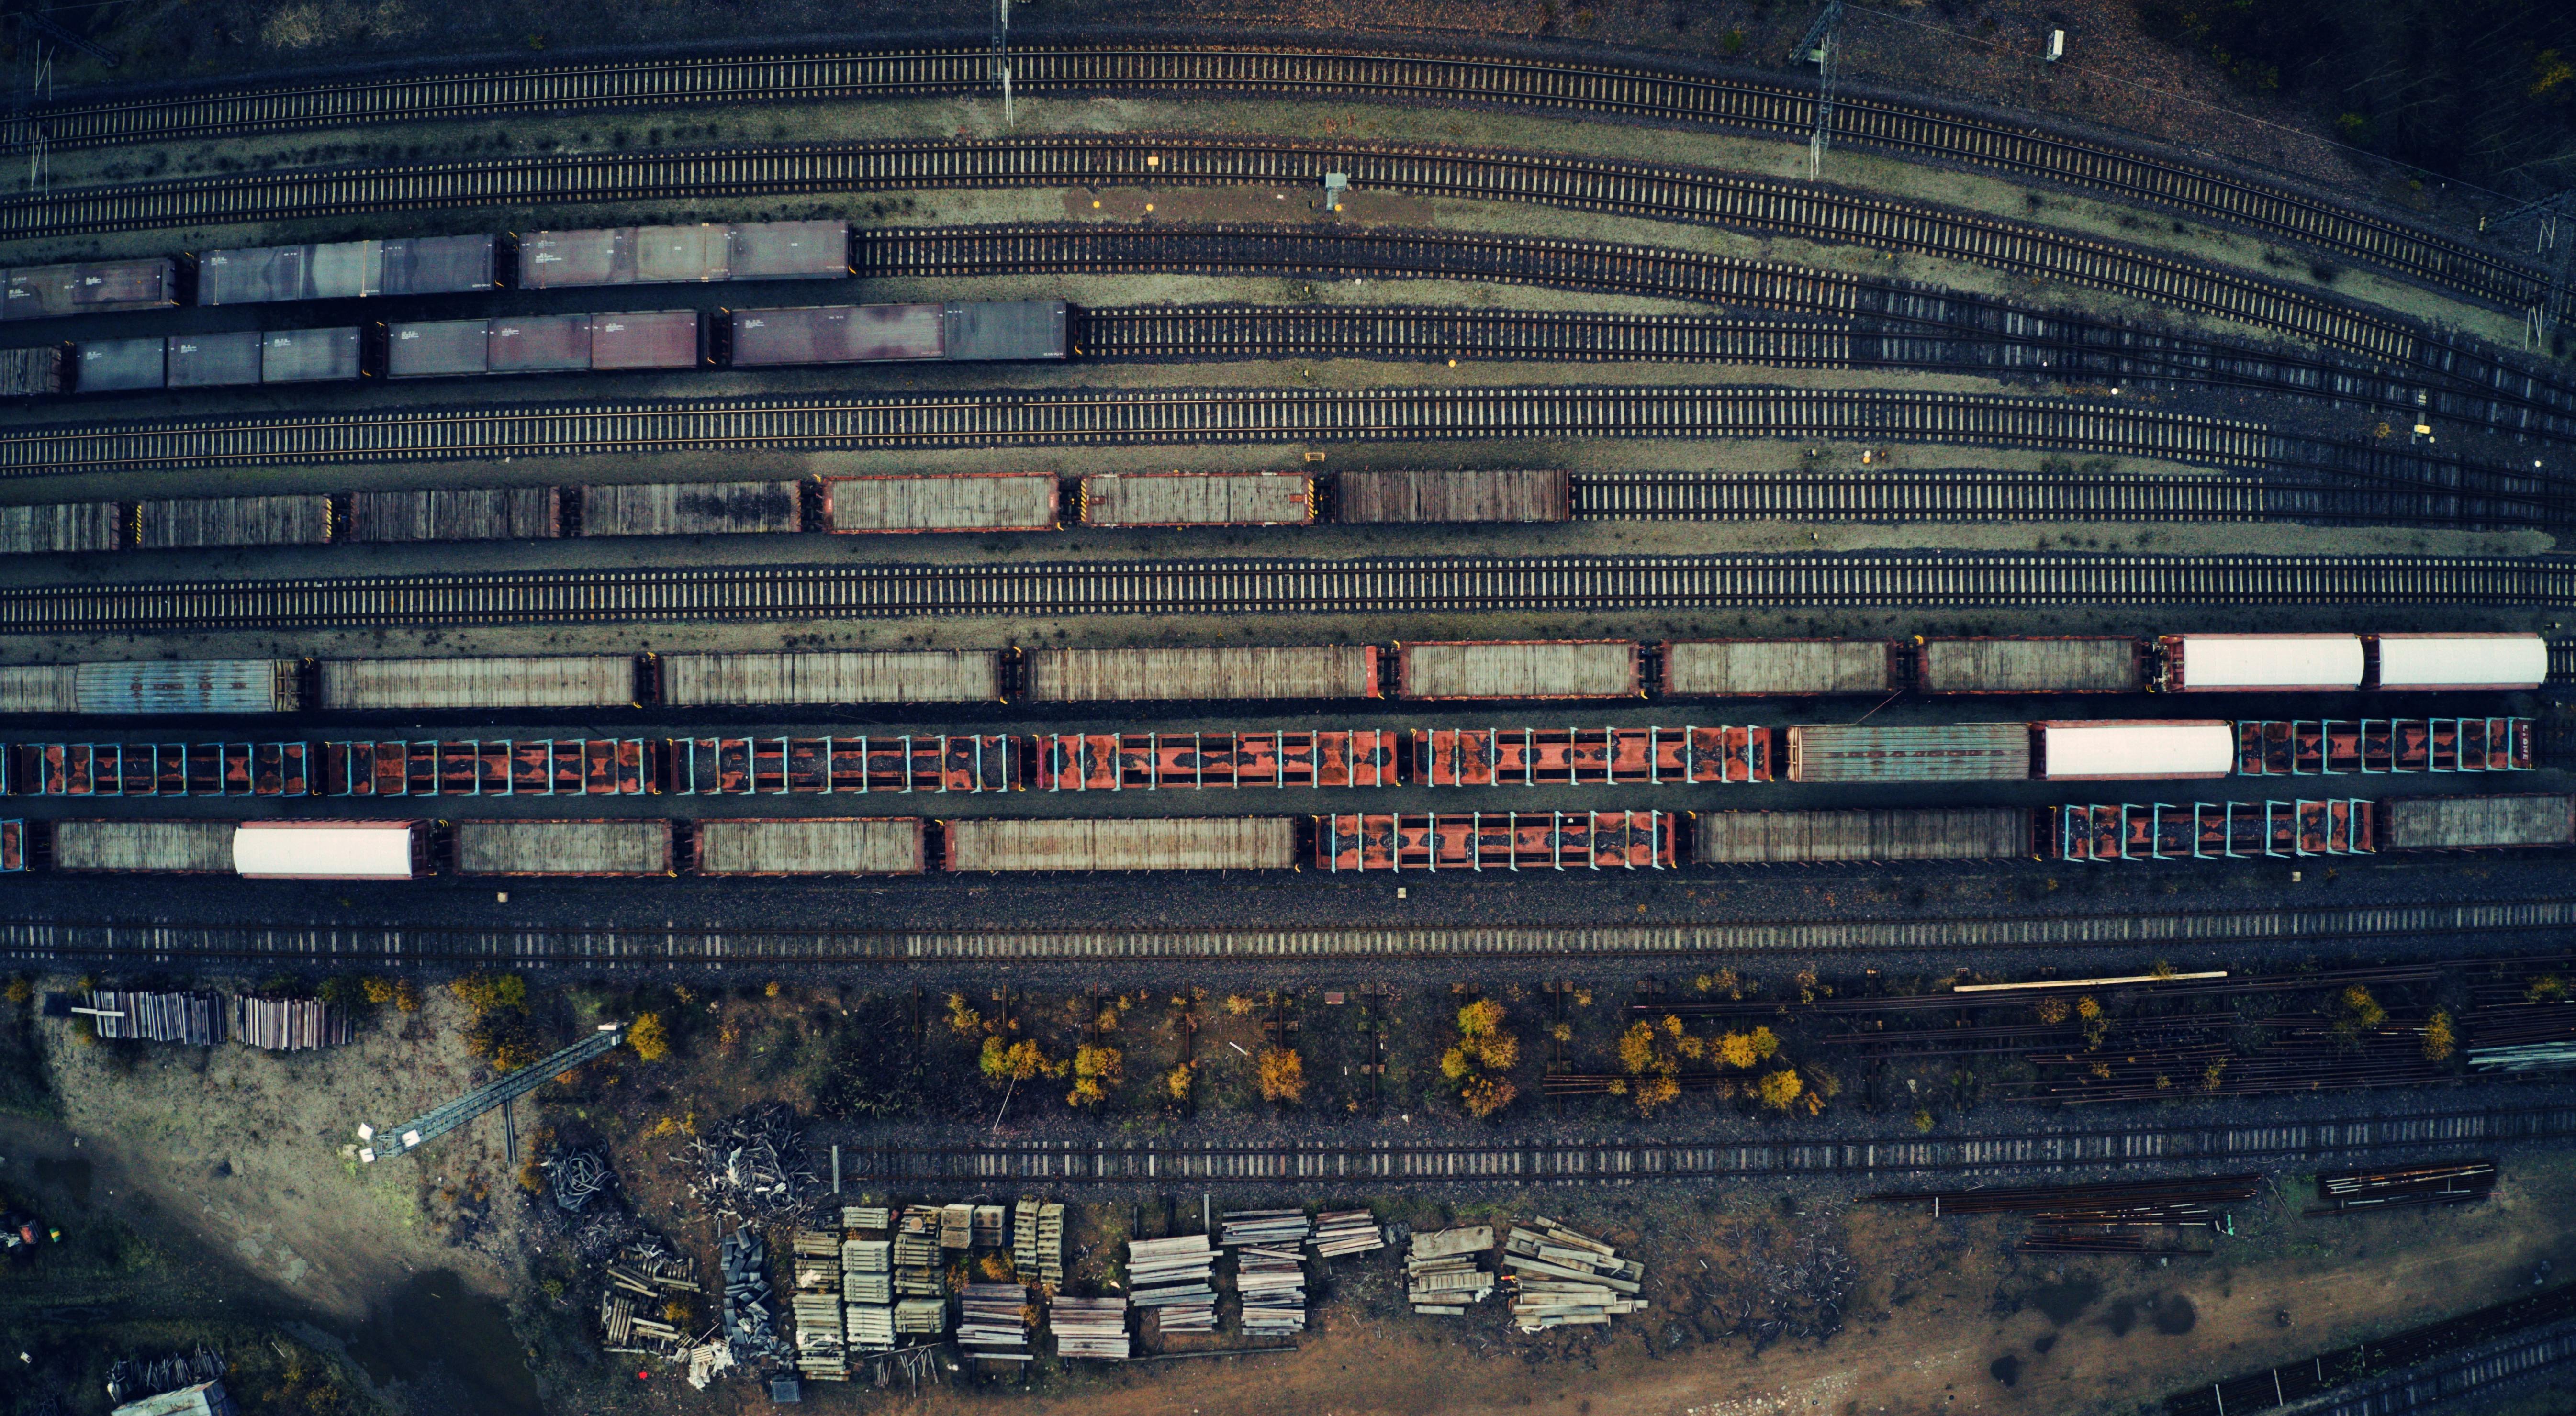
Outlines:
[[1772,731],[1412,729],[1412,780],[1432,788],[1767,783]]

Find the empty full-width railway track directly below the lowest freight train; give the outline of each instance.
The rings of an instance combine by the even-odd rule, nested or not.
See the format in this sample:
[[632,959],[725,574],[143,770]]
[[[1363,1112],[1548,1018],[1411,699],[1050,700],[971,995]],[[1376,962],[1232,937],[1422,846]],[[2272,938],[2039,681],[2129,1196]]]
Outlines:
[[2303,940],[2566,937],[2576,899],[2352,909],[1999,914],[1989,919],[1790,919],[1775,924],[1401,927],[1401,929],[698,929],[440,924],[118,924],[0,919],[0,958],[31,965],[258,963],[304,968],[690,968],[868,963],[1218,960],[1615,960],[1708,955],[1899,955],[1945,950],[2190,950]]

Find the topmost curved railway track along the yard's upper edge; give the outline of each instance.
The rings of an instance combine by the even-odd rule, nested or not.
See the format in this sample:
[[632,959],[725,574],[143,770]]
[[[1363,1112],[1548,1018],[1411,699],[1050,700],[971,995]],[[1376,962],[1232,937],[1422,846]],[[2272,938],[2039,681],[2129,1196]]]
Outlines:
[[[1713,77],[1607,62],[1352,54],[1342,49],[1218,46],[1066,46],[1012,49],[1020,95],[1177,93],[1383,98],[1473,103],[1525,111],[1618,116],[1651,124],[1713,126],[1803,139],[1816,124],[1811,85]],[[0,124],[8,144],[41,129],[54,149],[242,136],[258,131],[350,129],[466,116],[670,108],[708,103],[796,103],[835,98],[927,98],[992,88],[981,46],[920,51],[755,54],[739,59],[657,59],[366,77],[348,82],[216,90],[178,98],[39,106]],[[1958,162],[2017,180],[2146,201],[2362,260],[2470,299],[2524,309],[2545,296],[2545,275],[2504,252],[2432,232],[2406,219],[2148,152],[2115,139],[2048,131],[1965,108],[1839,93],[1834,142],[1906,157]]]

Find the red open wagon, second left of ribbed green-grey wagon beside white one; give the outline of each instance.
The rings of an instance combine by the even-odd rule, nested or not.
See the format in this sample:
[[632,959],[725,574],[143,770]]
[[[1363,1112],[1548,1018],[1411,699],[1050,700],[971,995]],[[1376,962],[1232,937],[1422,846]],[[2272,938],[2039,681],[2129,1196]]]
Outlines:
[[1396,734],[1051,734],[1030,739],[1046,790],[1154,788],[1383,788],[1396,780]]

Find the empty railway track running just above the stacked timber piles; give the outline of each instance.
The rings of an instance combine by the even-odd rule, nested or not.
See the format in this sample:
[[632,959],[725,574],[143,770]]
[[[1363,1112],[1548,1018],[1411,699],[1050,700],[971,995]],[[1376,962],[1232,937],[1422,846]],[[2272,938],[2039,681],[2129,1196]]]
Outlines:
[[[2509,1146],[2576,1135],[2576,1107],[2354,1112],[2293,1125],[2017,1130],[1880,1141],[1486,1141],[1453,1146],[1185,1141],[984,1141],[848,1146],[842,1174],[873,1182],[1054,1184],[1643,1184],[1728,1177],[1899,1177],[2148,1166],[2287,1166],[2336,1156]],[[850,1169],[855,1166],[855,1171]]]

